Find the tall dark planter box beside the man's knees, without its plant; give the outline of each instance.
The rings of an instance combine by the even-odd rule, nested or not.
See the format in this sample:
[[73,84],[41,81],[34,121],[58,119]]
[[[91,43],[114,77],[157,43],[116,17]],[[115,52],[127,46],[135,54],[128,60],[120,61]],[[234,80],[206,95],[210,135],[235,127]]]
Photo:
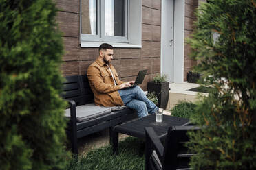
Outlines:
[[147,91],[148,92],[155,92],[158,97],[158,108],[165,109],[167,107],[168,99],[169,99],[169,82],[162,82],[162,83],[154,83],[148,82],[147,83]]

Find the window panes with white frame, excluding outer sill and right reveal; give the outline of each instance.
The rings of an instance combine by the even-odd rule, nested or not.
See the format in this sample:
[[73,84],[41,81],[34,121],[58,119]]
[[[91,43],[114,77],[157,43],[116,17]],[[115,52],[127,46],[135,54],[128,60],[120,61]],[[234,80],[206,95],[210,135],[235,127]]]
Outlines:
[[81,0],[81,41],[128,42],[128,0]]

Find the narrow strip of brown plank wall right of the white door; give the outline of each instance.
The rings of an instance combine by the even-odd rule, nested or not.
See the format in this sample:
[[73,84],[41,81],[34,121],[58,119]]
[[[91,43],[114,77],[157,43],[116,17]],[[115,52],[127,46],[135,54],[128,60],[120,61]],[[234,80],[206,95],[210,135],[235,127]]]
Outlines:
[[[193,33],[196,18],[194,15],[195,9],[198,8],[198,0],[185,0],[185,39],[191,37]],[[191,47],[188,44],[184,44],[184,82],[187,81],[187,73],[193,69],[193,66],[197,64],[195,60],[192,60],[189,55],[191,53]]]

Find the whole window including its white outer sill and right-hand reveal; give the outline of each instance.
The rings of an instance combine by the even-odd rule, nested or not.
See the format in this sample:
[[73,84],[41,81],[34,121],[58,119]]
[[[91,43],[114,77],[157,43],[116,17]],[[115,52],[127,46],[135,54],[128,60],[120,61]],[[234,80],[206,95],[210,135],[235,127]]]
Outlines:
[[142,0],[81,0],[80,11],[81,47],[142,47]]

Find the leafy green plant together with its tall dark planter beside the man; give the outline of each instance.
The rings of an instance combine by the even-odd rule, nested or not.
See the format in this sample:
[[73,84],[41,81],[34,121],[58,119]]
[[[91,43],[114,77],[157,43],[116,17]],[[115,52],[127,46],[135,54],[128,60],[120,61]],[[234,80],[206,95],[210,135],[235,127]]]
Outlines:
[[147,83],[147,91],[154,92],[158,98],[158,108],[165,109],[169,99],[169,82],[167,82],[167,75],[156,75],[152,82]]

